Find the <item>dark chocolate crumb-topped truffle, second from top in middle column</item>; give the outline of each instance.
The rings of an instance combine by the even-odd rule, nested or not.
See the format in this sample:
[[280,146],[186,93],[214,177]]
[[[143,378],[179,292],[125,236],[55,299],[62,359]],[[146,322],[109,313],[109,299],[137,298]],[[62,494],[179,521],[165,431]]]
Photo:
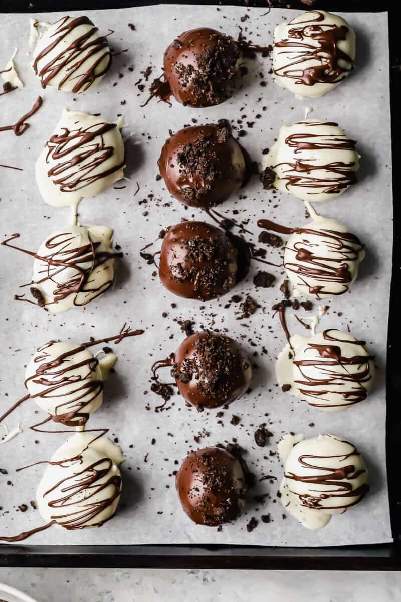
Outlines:
[[165,142],[158,161],[170,194],[184,205],[219,205],[246,177],[245,158],[227,122],[180,129]]

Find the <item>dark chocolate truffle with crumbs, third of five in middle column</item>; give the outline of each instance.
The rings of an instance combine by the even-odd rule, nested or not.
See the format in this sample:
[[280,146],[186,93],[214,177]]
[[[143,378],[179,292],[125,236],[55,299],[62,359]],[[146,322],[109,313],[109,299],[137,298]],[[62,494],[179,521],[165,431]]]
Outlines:
[[236,275],[237,250],[224,231],[204,222],[167,228],[159,278],[171,293],[186,299],[216,299],[233,288]]

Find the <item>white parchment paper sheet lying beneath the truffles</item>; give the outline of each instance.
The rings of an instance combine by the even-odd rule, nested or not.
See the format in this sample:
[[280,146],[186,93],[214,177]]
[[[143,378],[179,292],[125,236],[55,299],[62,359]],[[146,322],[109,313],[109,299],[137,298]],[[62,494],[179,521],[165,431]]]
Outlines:
[[[25,394],[25,365],[34,349],[45,341],[62,338],[79,343],[91,335],[109,336],[117,333],[124,321],[134,328],[145,328],[142,337],[128,339],[115,347],[120,355],[116,372],[106,383],[103,406],[88,423],[88,428],[108,427],[109,436],[118,439],[126,454],[118,514],[100,529],[69,532],[52,527],[32,536],[29,544],[326,546],[391,541],[385,465],[385,350],[392,240],[387,13],[347,13],[347,20],[357,31],[357,68],[346,82],[323,98],[307,101],[294,98],[274,84],[269,73],[271,59],[260,56],[248,61],[249,76],[242,82],[242,89],[218,107],[198,110],[173,102],[169,108],[154,99],[141,108],[147,91],[141,93],[135,86],[140,78],[146,84],[141,71],[148,65],[153,66],[150,79],[161,73],[165,48],[185,29],[211,26],[236,37],[242,26],[248,39],[266,45],[272,42],[274,26],[298,12],[192,5],[85,11],[102,33],[114,30],[109,40],[114,52],[120,54],[115,56],[111,72],[99,87],[76,96],[51,88],[41,90],[39,80],[29,70],[29,16],[2,15],[0,66],[7,63],[13,47],[17,47],[16,64],[25,88],[0,98],[0,126],[18,119],[38,94],[44,104],[29,120],[31,127],[22,137],[12,132],[0,134],[0,163],[23,167],[23,172],[0,168],[1,235],[20,232],[21,246],[36,250],[49,232],[69,222],[69,209],[45,205],[34,178],[35,161],[64,107],[102,113],[109,120],[122,114],[126,123],[124,134],[132,136],[126,144],[126,175],[130,181],[118,182],[114,189],[95,199],[85,199],[80,206],[80,222],[112,226],[115,243],[124,251],[114,290],[81,310],[63,314],[52,315],[28,303],[14,302],[19,285],[31,278],[32,263],[22,253],[0,249],[4,335],[0,413]],[[38,20],[51,21],[60,16],[63,14],[34,15]],[[244,16],[245,19],[240,19]],[[135,25],[135,30],[129,23]],[[260,85],[261,81],[267,85]],[[325,300],[329,310],[320,318],[321,329],[346,329],[349,325],[355,337],[367,341],[378,365],[376,385],[368,399],[338,414],[310,408],[282,393],[275,383],[275,358],[284,345],[284,336],[277,317],[272,317],[271,306],[281,299],[279,287],[284,276],[280,270],[253,264],[246,281],[234,288],[232,294],[239,294],[242,299],[250,294],[260,308],[248,320],[238,320],[239,306],[230,303],[231,294],[206,303],[174,297],[162,288],[158,278],[152,277],[154,266],[147,265],[139,256],[139,249],[155,240],[162,228],[182,217],[204,219],[200,210],[186,210],[170,197],[163,181],[156,181],[156,161],[168,129],[177,131],[191,123],[191,119],[202,123],[228,118],[237,125],[236,121],[245,116],[241,122],[254,125],[243,126],[246,135],[241,143],[254,160],[260,160],[262,149],[272,145],[282,124],[290,125],[304,118],[305,105],[313,108],[311,117],[338,121],[350,138],[358,140],[362,155],[358,184],[337,200],[316,204],[317,211],[344,221],[367,244],[367,256],[357,282],[350,293]],[[140,190],[135,195],[136,182]],[[149,197],[150,194],[154,196]],[[142,202],[144,199],[146,202]],[[239,212],[237,219],[249,220],[247,228],[255,233],[255,241],[259,233],[256,220],[260,217],[289,226],[305,222],[300,200],[262,190],[258,178],[219,208],[228,216],[233,209]],[[158,243],[154,248],[158,249]],[[268,251],[268,255],[272,262],[277,262],[277,250]],[[275,286],[256,289],[253,276],[266,268],[277,276]],[[171,307],[171,303],[176,303],[176,307]],[[315,312],[317,305],[314,303]],[[163,312],[167,312],[167,317],[162,316]],[[168,411],[155,412],[162,400],[150,393],[150,365],[176,350],[185,338],[177,323],[181,319],[194,320],[197,329],[227,329],[231,336],[242,341],[249,355],[257,352],[253,357],[257,368],[251,392],[225,410],[222,418],[217,418],[214,411],[198,414],[195,409],[186,408],[177,395],[168,403]],[[295,319],[289,318],[289,326],[292,333],[305,334]],[[232,415],[240,418],[237,426],[230,424]],[[23,433],[0,446],[0,468],[8,472],[0,474],[1,535],[15,535],[42,523],[29,501],[34,500],[43,468],[38,466],[22,473],[16,473],[15,469],[49,459],[64,442],[65,435],[38,435],[29,431],[28,427],[43,417],[34,403],[26,402],[6,421],[10,428],[20,422]],[[274,434],[265,448],[254,443],[254,431],[261,423],[267,423]],[[286,513],[277,497],[282,468],[278,456],[270,452],[277,451],[277,442],[288,432],[303,432],[306,436],[329,432],[343,436],[358,445],[369,466],[370,494],[345,515],[332,518],[320,532],[304,529],[290,516],[283,518]],[[203,433],[199,444],[194,441],[198,433]],[[153,438],[155,445],[151,445]],[[249,503],[236,523],[224,526],[221,532],[196,526],[180,507],[173,472],[189,449],[224,444],[233,438],[246,450],[244,457],[256,474],[257,486],[249,491]],[[277,480],[262,479],[266,475]],[[268,494],[263,501],[255,498],[262,494]],[[22,503],[28,504],[23,514],[17,509]],[[266,514],[270,514],[269,523],[260,520]],[[249,533],[246,524],[251,517],[257,519],[258,525]]]

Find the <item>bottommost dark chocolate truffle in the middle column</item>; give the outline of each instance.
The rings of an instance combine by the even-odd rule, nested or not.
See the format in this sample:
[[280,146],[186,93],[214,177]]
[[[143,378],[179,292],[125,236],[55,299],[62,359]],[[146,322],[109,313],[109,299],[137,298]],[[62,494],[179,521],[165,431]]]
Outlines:
[[242,465],[219,447],[191,452],[176,477],[184,512],[194,523],[218,527],[239,517],[246,495]]

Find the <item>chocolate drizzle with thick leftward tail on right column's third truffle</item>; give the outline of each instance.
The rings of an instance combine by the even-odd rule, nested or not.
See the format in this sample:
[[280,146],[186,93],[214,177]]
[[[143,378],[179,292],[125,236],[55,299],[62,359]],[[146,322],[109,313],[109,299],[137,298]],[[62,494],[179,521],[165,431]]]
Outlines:
[[[280,234],[301,234],[302,240],[293,246],[287,243],[286,252],[294,254],[293,261],[285,261],[287,272],[298,276],[309,294],[317,299],[324,294],[341,295],[349,290],[354,280],[350,266],[360,260],[364,245],[358,237],[349,232],[331,229],[286,228],[270,220],[258,220],[259,228],[280,232]],[[324,246],[326,256],[314,252],[317,246]],[[310,284],[309,281],[313,284]],[[299,285],[299,286],[302,286]]]

